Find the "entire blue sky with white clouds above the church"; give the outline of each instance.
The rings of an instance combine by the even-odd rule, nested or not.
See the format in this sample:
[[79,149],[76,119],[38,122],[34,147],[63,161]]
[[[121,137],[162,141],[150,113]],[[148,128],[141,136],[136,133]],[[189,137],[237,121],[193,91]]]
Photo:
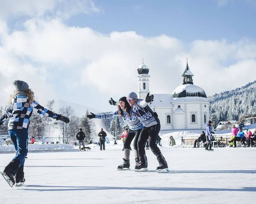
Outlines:
[[195,85],[207,95],[255,80],[252,0],[0,4],[0,106],[19,79],[42,104],[55,99],[112,111],[110,97],[137,91],[142,58],[151,93],[172,93],[181,85],[186,58]]

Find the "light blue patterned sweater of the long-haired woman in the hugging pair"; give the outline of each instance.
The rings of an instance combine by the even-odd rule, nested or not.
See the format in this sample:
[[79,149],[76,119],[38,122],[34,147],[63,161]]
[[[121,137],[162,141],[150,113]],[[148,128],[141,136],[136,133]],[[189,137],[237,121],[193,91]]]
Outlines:
[[[116,111],[114,113],[103,113],[100,115],[95,115],[95,118],[106,119],[106,118],[113,118],[113,117],[117,117],[117,116],[120,116],[118,111]],[[140,130],[144,127],[144,125],[139,120],[139,118],[136,116],[136,114],[133,112],[133,110],[131,110],[130,116],[125,111],[123,111],[122,119],[129,126],[129,129],[131,129],[133,131]]]

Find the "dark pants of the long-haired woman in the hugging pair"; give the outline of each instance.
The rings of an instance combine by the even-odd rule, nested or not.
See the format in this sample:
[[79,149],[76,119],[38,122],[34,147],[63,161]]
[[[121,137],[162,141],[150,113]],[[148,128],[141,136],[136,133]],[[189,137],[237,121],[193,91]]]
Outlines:
[[124,143],[123,143],[123,148],[124,150],[125,149],[129,149],[130,150],[130,145],[134,139],[134,142],[133,142],[133,147],[134,147],[134,154],[135,154],[135,161],[138,162],[139,161],[139,156],[138,156],[138,139],[139,139],[139,135],[140,135],[140,132],[141,132],[142,129],[139,129],[139,130],[136,130],[136,131],[133,131],[133,130],[129,130],[126,137],[125,137],[125,140],[124,140]]

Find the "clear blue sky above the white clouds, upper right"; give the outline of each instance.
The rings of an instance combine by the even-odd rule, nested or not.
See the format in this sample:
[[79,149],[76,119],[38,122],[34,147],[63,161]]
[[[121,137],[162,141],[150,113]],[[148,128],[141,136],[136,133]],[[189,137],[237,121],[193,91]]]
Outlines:
[[186,42],[222,38],[237,41],[243,37],[255,40],[256,36],[253,1],[110,0],[95,4],[102,12],[73,16],[67,23],[105,34],[136,31],[143,36],[165,34]]

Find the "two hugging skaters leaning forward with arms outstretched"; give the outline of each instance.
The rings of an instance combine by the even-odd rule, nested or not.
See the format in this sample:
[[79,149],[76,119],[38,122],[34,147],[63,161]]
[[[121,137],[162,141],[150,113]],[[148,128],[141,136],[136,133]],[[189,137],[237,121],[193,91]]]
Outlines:
[[147,171],[147,157],[145,154],[145,143],[148,140],[152,152],[157,157],[159,166],[157,172],[167,172],[168,165],[163,157],[156,141],[160,131],[160,120],[155,112],[148,106],[154,100],[153,95],[146,95],[144,100],[139,99],[135,92],[121,97],[118,102],[113,98],[109,100],[111,105],[117,106],[117,111],[105,114],[88,114],[87,117],[106,119],[120,116],[129,126],[125,137],[123,163],[117,167],[118,170],[130,168],[130,145],[134,139],[135,171]]

